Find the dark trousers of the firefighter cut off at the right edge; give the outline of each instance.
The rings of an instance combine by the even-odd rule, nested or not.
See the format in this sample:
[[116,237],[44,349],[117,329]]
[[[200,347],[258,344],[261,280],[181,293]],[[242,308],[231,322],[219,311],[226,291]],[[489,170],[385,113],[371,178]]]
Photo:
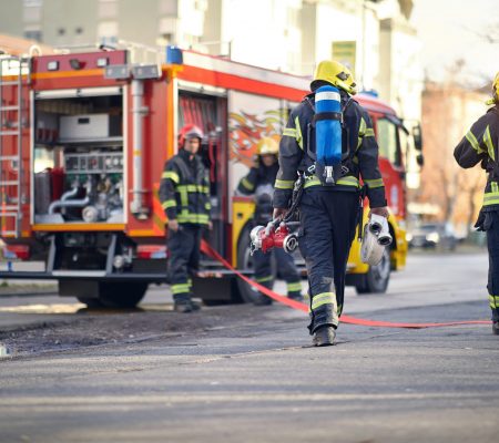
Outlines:
[[489,303],[492,310],[492,321],[499,321],[499,213],[486,213],[483,226],[487,231],[487,248],[489,250]]

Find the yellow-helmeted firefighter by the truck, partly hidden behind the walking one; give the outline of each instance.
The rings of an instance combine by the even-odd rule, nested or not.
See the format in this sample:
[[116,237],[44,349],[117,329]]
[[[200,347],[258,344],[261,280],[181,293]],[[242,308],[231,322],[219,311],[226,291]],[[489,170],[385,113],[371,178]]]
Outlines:
[[[277,164],[278,144],[274,138],[263,137],[256,146],[255,165],[249,173],[243,177],[237,186],[237,192],[243,195],[255,196],[255,214],[253,220],[256,225],[266,225],[272,220],[272,195],[274,194],[274,183],[279,168]],[[255,226],[256,226],[255,225]],[[282,248],[275,248],[272,253],[264,254],[261,250],[253,255],[255,280],[272,289],[274,277],[272,272],[271,259],[274,254],[277,275],[286,281],[287,296],[294,300],[303,300],[302,281],[295,266],[293,256]],[[271,305],[272,299],[263,293],[254,298],[255,305]]]

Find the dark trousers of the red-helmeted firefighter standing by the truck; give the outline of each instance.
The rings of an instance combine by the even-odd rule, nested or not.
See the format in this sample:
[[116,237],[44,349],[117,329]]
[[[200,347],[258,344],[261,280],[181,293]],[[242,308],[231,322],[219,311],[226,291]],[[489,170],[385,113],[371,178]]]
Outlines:
[[180,225],[176,233],[169,231],[166,240],[170,254],[167,275],[173,299],[176,302],[191,300],[191,276],[200,265],[202,229],[198,225]]

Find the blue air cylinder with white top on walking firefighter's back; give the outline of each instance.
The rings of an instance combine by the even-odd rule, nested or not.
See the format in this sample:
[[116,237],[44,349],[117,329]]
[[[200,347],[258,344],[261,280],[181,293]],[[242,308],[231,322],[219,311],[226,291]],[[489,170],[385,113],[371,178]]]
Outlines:
[[334,86],[315,93],[315,147],[317,163],[335,166],[342,162],[342,103]]

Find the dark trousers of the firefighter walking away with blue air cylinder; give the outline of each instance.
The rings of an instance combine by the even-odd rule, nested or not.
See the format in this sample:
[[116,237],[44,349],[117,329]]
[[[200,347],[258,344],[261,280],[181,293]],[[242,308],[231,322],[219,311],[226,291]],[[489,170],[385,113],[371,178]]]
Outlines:
[[345,295],[348,254],[359,216],[359,194],[305,189],[301,207],[299,249],[305,258],[313,334],[339,323]]

